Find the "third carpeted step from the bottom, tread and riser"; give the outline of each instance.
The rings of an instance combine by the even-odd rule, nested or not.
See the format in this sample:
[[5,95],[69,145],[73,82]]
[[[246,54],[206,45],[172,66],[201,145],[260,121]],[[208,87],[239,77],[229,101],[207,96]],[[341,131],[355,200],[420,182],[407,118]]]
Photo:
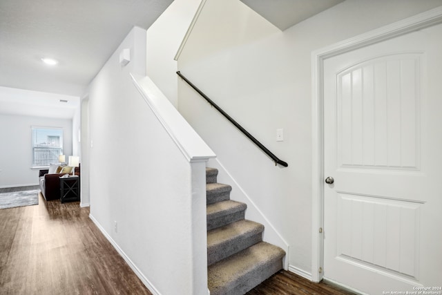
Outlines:
[[244,219],[247,204],[232,200],[216,202],[206,206],[207,231]]

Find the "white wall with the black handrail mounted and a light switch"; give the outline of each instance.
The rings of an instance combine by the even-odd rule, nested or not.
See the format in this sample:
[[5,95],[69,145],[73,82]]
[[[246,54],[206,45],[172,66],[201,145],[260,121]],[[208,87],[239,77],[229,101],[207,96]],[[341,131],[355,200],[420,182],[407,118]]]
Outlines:
[[[184,82],[178,107],[225,167],[220,180],[230,173],[289,242],[292,271],[311,275],[311,231],[316,230],[311,228],[311,52],[441,5],[441,0],[347,0],[284,32],[238,0],[208,0],[204,6],[178,69],[289,167],[274,166]],[[276,129],[284,129],[283,142],[276,142]],[[232,198],[244,196],[233,191]]]

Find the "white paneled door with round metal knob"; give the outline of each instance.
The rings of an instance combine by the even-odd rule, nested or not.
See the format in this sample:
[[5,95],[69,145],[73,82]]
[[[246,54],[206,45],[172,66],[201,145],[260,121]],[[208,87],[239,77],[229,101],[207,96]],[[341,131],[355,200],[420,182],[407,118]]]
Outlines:
[[442,25],[325,59],[324,124],[325,278],[442,294]]

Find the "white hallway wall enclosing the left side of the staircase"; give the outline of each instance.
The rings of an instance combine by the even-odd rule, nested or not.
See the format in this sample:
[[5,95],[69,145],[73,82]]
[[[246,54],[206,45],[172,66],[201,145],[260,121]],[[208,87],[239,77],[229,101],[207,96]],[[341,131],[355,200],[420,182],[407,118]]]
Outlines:
[[184,157],[137,92],[129,73],[145,76],[145,63],[146,31],[133,28],[89,86],[90,218],[154,294],[206,294],[205,183],[193,182],[205,163]]

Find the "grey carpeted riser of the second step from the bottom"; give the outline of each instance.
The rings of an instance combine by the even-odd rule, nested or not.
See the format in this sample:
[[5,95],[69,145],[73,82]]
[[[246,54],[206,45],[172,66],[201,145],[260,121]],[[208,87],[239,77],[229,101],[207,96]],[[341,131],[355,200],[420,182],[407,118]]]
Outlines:
[[238,253],[258,242],[262,241],[262,232],[253,236],[239,236],[221,245],[207,248],[207,265],[212,265],[218,261]]

